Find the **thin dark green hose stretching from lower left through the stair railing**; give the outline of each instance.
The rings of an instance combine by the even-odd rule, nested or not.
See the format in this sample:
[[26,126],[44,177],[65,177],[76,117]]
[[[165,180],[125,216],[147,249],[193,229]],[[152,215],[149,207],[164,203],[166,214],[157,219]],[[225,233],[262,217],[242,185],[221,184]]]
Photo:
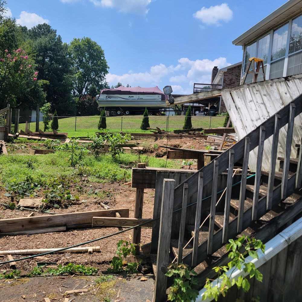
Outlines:
[[[255,176],[255,174],[248,176],[246,179],[249,179],[249,178],[251,178],[251,177],[253,177],[253,176]],[[232,187],[234,187],[234,186],[236,186],[236,185],[238,185],[238,184],[240,184],[240,183],[241,183],[241,181],[236,182],[235,184],[232,185]],[[224,190],[218,191],[217,194],[222,193],[223,191],[224,191]],[[211,196],[212,196],[212,195],[207,196],[207,197],[204,197],[202,200],[208,199],[208,198],[210,198]],[[187,207],[191,207],[191,206],[193,206],[193,205],[196,204],[196,203],[197,203],[197,202],[194,202],[194,203],[192,203],[192,204],[189,204],[189,205],[187,205]],[[177,209],[177,210],[174,210],[173,213],[179,212],[179,211],[181,211],[181,210],[182,210],[182,208]],[[24,258],[20,258],[20,259],[14,259],[14,260],[3,261],[3,262],[0,262],[0,264],[6,264],[6,263],[16,262],[16,261],[21,261],[21,260],[26,260],[26,259],[32,259],[32,258],[35,258],[35,257],[44,256],[44,255],[48,255],[48,254],[53,254],[53,253],[56,253],[56,252],[59,252],[59,251],[64,251],[64,250],[66,250],[66,249],[71,249],[71,248],[74,248],[74,247],[82,246],[82,245],[85,245],[85,244],[88,244],[88,243],[92,243],[92,242],[95,242],[95,241],[98,241],[98,240],[106,239],[106,238],[108,238],[108,237],[111,237],[111,236],[114,236],[114,235],[118,235],[118,234],[127,232],[127,231],[129,231],[129,230],[133,230],[133,229],[135,229],[135,228],[137,228],[137,227],[140,227],[140,226],[143,226],[143,225],[145,225],[145,224],[147,224],[147,223],[150,223],[150,222],[159,220],[159,218],[160,218],[160,217],[154,218],[154,219],[152,219],[152,220],[148,220],[148,221],[146,221],[146,222],[140,223],[140,224],[138,224],[138,225],[136,225],[136,226],[130,226],[130,227],[128,227],[127,229],[118,231],[118,232],[116,232],[116,233],[109,234],[109,235],[106,235],[106,236],[102,236],[102,237],[100,237],[100,238],[92,239],[92,240],[89,240],[89,241],[86,241],[86,242],[78,243],[78,244],[75,244],[75,245],[72,245],[72,246],[64,247],[64,248],[62,248],[62,249],[56,249],[56,250],[51,251],[51,252],[45,252],[45,253],[41,253],[41,254],[37,254],[37,255],[31,255],[31,256],[24,257]],[[1,233],[0,233],[0,234],[1,234]]]

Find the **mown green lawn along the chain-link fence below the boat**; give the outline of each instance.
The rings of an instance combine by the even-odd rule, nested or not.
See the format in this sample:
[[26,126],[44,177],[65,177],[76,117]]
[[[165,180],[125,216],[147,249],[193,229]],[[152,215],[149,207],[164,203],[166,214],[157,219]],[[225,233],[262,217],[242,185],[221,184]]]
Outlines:
[[[159,127],[166,130],[167,128],[166,116],[149,116],[150,128]],[[225,117],[192,117],[193,128],[216,128],[223,127]],[[67,132],[69,137],[86,137],[95,134],[98,130],[99,116],[93,117],[65,117],[59,119],[59,132]],[[170,116],[169,117],[169,131],[182,129],[185,121],[185,116]],[[150,133],[148,130],[141,130],[140,124],[142,116],[117,116],[106,117],[107,129],[112,132],[124,131],[130,133]],[[30,130],[34,131],[36,123],[30,123]],[[40,122],[39,128],[44,129],[43,122]],[[19,124],[19,129],[25,130],[25,123]]]

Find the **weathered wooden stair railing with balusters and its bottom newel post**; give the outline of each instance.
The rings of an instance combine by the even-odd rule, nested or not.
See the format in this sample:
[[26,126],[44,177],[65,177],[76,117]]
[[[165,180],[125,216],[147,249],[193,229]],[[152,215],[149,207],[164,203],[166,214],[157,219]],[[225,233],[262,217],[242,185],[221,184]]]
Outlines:
[[[195,173],[194,175],[186,179],[185,182],[182,182],[180,185],[178,185],[174,189],[174,194],[170,194],[170,191],[174,186],[173,180],[164,180],[156,263],[156,282],[153,302],[161,301],[162,299],[164,299],[167,288],[167,277],[165,276],[165,271],[168,265],[167,259],[169,259],[169,246],[172,224],[172,219],[170,217],[167,217],[167,210],[170,211],[171,204],[173,205],[173,210],[184,210],[187,203],[196,203],[193,249],[183,258],[179,256],[182,255],[182,252],[180,252],[178,255],[179,258],[181,257],[180,259],[178,259],[179,263],[185,263],[191,268],[194,268],[196,265],[207,259],[208,255],[211,255],[218,249],[220,249],[227,242],[228,239],[236,237],[238,233],[241,233],[243,230],[249,227],[253,221],[258,220],[260,217],[265,215],[267,211],[271,210],[272,207],[276,206],[280,203],[280,201],[290,196],[296,188],[301,188],[302,152],[300,152],[299,154],[297,172],[291,174],[291,176],[288,177],[294,127],[295,131],[297,129],[300,129],[299,143],[302,143],[301,128],[299,128],[297,124],[294,126],[294,119],[301,112],[302,95],[291,101],[288,105],[278,111],[274,116],[268,118],[268,120],[266,120],[255,130],[250,132],[246,137],[244,137],[230,149],[222,153],[208,165],[200,169],[199,172]],[[300,119],[300,117],[297,117],[297,119]],[[280,185],[274,187],[279,129],[281,129],[285,125],[287,125],[287,137],[285,146],[282,146],[285,149],[282,181]],[[263,147],[265,140],[267,140],[271,136],[272,148],[267,195],[259,198]],[[249,207],[244,211],[249,153],[256,147],[258,147],[258,157],[255,171],[255,184],[252,207]],[[233,180],[233,163],[238,162],[240,160],[242,160],[243,162],[243,167],[240,185],[239,209],[237,216],[230,221],[229,213]],[[217,182],[220,174],[226,170],[228,170],[228,174],[223,228],[214,233],[214,220],[217,202]],[[171,182],[171,184],[169,184],[169,182]],[[210,215],[208,223],[208,238],[206,241],[199,244],[201,214],[205,212],[205,205],[202,202],[202,192],[204,187],[208,184],[210,184],[212,187]],[[193,198],[191,197],[193,197],[194,194],[196,196],[196,193],[197,198],[193,200]],[[184,241],[184,216],[185,213],[182,213],[178,245],[180,248],[182,248]]]

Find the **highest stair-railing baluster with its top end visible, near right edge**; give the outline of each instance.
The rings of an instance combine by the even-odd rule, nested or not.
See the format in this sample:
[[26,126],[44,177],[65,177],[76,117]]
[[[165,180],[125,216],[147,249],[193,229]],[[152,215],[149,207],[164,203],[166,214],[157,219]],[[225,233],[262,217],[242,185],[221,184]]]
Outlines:
[[295,110],[296,110],[296,105],[291,104],[289,107],[289,117],[288,117],[287,136],[286,136],[286,149],[285,149],[285,155],[284,155],[282,183],[281,183],[281,198],[282,199],[285,199],[287,197],[286,191],[287,191],[287,182],[288,182],[289,161],[291,158],[291,141],[293,140]]

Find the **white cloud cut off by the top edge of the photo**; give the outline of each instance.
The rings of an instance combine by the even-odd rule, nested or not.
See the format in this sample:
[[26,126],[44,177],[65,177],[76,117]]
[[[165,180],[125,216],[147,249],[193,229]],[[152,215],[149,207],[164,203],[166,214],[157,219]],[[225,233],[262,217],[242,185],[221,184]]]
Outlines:
[[149,11],[147,6],[151,3],[151,0],[90,0],[90,2],[96,6],[117,8],[122,13],[145,15]]

